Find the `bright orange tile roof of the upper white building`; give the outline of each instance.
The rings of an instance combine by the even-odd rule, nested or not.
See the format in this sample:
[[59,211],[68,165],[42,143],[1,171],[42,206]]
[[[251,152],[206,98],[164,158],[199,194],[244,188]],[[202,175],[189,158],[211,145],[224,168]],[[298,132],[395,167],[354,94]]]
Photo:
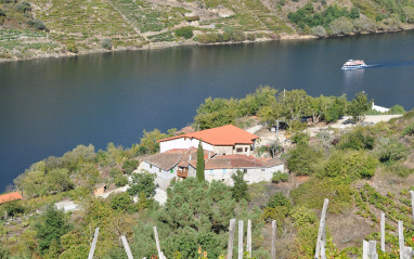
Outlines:
[[227,146],[234,146],[235,144],[254,144],[254,140],[259,139],[259,137],[256,134],[249,133],[233,125],[227,125],[214,129],[207,129],[158,140],[158,142],[176,140],[180,138],[197,139],[203,140],[204,142],[211,145]]

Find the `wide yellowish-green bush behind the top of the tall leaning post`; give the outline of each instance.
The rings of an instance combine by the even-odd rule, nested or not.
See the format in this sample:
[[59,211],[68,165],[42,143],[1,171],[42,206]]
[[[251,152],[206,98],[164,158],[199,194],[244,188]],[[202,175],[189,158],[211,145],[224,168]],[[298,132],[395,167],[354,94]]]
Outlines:
[[329,199],[329,212],[339,213],[351,206],[352,192],[349,184],[333,179],[311,178],[290,193],[295,206],[321,209],[325,198]]

